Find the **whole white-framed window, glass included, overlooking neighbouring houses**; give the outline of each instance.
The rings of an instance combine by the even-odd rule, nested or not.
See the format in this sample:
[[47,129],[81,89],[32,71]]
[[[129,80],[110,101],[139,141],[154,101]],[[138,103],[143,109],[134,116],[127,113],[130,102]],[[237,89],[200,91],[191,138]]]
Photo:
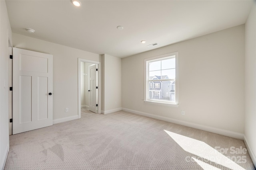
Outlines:
[[145,69],[144,101],[178,104],[178,52],[145,59]]

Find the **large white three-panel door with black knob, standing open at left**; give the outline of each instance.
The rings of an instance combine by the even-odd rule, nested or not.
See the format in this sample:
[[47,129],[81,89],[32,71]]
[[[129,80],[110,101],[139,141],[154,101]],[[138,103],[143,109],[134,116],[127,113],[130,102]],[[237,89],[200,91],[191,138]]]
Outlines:
[[13,135],[52,125],[53,56],[13,48]]

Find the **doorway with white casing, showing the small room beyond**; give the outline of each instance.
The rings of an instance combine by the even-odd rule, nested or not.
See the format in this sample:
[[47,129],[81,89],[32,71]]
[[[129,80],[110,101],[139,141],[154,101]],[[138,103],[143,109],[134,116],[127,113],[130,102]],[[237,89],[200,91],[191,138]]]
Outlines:
[[78,118],[81,109],[101,113],[100,62],[78,59]]

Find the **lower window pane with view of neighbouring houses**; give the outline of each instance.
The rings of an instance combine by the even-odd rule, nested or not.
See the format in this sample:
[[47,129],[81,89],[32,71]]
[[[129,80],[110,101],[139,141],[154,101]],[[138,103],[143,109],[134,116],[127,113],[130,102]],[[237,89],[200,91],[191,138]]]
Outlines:
[[148,87],[149,99],[175,102],[175,81],[149,82]]

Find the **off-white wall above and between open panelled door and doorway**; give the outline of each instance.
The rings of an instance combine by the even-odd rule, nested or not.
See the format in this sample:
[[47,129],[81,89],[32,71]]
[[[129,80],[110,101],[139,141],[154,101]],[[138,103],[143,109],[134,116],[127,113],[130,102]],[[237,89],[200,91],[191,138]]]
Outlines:
[[[14,47],[53,55],[53,119],[78,116],[78,58],[100,62],[101,56],[13,33]],[[65,107],[69,108],[65,112]]]

